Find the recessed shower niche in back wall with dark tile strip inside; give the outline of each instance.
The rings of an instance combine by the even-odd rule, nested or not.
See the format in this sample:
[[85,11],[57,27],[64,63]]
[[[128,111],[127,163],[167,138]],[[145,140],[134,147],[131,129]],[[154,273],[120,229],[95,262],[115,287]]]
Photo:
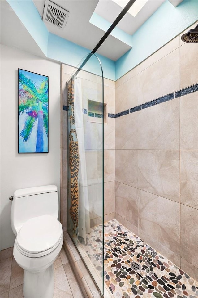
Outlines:
[[[104,110],[103,110],[104,108]],[[107,124],[107,104],[88,99],[88,121],[102,123],[102,115],[104,112],[104,123]]]

